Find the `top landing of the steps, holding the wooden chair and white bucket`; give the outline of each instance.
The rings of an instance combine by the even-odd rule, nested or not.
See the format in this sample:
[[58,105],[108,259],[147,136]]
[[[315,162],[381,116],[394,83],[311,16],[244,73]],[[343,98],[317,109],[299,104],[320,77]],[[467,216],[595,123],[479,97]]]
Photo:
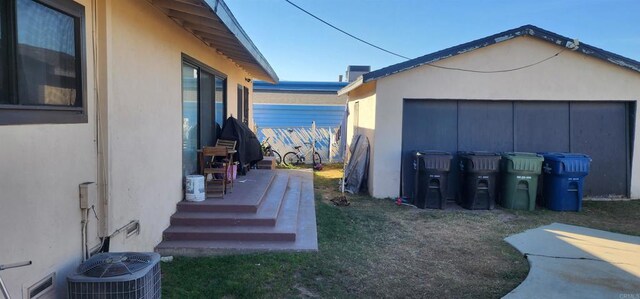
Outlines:
[[[238,177],[234,188],[228,189],[224,198],[207,198],[201,202],[181,201],[178,212],[210,212],[210,213],[257,213],[262,200],[273,184],[286,184],[287,175],[276,175],[275,171],[255,170],[250,188],[243,186],[249,179]],[[278,179],[277,182],[274,180]]]

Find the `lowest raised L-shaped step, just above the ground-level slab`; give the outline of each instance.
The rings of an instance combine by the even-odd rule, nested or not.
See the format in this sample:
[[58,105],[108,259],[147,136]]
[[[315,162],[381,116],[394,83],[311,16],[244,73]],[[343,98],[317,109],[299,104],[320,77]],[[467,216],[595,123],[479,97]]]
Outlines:
[[[170,226],[165,241],[295,241],[302,182],[292,177],[275,226]],[[164,243],[164,242],[163,242]],[[158,245],[162,248],[162,243]]]

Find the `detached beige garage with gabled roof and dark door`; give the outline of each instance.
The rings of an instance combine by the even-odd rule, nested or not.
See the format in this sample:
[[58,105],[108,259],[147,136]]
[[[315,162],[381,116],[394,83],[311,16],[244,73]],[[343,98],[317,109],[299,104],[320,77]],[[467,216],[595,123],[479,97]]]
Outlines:
[[374,197],[411,197],[413,150],[585,153],[586,196],[640,196],[640,62],[577,40],[526,25],[364,74],[340,94],[347,140],[371,144]]

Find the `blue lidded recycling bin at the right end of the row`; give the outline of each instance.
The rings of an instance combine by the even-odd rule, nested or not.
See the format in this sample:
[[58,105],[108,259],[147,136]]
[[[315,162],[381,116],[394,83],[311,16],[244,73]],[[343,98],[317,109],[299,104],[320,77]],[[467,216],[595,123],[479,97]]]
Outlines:
[[591,157],[574,153],[542,155],[544,205],[553,211],[580,211],[584,178],[589,174]]

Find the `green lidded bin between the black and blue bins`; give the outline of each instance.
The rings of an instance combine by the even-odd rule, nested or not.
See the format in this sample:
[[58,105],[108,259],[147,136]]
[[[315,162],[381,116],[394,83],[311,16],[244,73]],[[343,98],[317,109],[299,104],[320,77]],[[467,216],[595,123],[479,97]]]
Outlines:
[[514,210],[535,210],[542,161],[544,158],[534,153],[502,154],[502,182],[498,199],[501,206]]

